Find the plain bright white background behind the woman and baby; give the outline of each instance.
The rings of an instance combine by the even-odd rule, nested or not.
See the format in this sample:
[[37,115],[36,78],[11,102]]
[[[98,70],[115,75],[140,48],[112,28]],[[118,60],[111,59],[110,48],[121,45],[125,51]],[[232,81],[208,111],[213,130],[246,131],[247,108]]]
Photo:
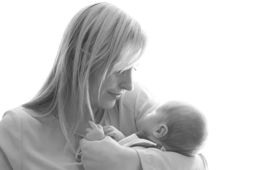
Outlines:
[[[35,95],[67,24],[95,2],[1,1],[0,117]],[[184,100],[207,116],[209,138],[202,152],[210,169],[256,169],[253,0],[110,2],[136,18],[149,38],[135,78],[160,101]]]

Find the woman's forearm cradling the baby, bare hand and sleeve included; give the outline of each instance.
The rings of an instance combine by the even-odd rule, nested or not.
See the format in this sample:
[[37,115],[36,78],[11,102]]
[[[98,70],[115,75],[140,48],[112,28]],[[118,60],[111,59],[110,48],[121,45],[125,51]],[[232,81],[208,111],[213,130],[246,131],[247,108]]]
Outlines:
[[121,146],[109,136],[100,141],[82,139],[81,161],[90,170],[207,170],[201,156],[183,156],[148,148],[134,150]]

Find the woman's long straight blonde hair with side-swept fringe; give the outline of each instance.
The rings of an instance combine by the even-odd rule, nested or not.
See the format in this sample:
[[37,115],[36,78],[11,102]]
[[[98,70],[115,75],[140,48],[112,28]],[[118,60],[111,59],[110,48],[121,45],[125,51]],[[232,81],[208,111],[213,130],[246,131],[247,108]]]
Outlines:
[[[105,77],[134,66],[143,54],[146,40],[140,24],[111,3],[96,3],[81,9],[64,32],[44,85],[31,101],[21,106],[35,111],[32,116],[38,118],[57,117],[71,146],[70,139],[84,113],[89,111],[94,121],[90,74],[99,72],[101,88]],[[73,102],[71,114],[76,114],[69,135],[64,113],[67,97]]]

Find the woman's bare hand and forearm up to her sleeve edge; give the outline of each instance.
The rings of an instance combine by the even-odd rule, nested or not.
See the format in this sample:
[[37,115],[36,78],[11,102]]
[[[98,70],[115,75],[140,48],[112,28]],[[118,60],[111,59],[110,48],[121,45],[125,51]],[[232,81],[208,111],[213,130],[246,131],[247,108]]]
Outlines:
[[85,170],[141,170],[136,150],[121,146],[110,136],[99,141],[81,139],[80,147]]

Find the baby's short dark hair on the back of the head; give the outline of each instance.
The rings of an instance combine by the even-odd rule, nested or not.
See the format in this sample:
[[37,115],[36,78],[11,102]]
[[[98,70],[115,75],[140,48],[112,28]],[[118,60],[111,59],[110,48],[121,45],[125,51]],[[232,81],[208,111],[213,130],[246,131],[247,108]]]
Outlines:
[[195,156],[208,134],[207,120],[203,113],[180,101],[169,101],[160,107],[166,113],[163,121],[168,127],[168,133],[160,141],[172,148],[170,151]]

